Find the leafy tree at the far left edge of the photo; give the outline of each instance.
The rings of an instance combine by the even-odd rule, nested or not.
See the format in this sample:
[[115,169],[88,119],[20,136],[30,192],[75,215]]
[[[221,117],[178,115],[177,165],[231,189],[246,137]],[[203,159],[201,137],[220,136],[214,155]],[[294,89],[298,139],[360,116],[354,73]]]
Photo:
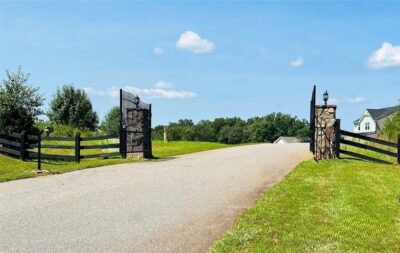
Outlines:
[[21,67],[16,73],[6,70],[7,78],[0,85],[0,129],[6,132],[33,131],[38,116],[43,114],[44,99],[39,88],[27,84],[30,74]]

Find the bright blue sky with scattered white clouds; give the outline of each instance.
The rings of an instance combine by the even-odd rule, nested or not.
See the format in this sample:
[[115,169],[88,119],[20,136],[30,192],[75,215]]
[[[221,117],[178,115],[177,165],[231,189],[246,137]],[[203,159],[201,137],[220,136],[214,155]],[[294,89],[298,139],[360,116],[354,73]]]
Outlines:
[[400,2],[0,1],[0,78],[30,73],[50,102],[85,89],[103,118],[116,91],[153,124],[283,112],[309,119],[328,90],[345,129],[400,99]]

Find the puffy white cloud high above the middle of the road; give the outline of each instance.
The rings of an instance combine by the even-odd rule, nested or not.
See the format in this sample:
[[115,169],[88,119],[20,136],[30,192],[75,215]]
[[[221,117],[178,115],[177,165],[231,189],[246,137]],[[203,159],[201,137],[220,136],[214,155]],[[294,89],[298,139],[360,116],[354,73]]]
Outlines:
[[182,33],[176,42],[176,47],[188,50],[194,54],[211,53],[215,49],[211,41],[201,38],[200,35],[192,31]]

